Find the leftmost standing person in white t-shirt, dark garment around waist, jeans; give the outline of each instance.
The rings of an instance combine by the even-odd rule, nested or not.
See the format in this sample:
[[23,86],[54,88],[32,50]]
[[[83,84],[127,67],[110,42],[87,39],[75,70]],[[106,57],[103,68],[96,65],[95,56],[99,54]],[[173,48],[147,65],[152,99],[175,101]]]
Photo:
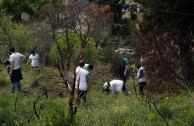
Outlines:
[[20,69],[20,62],[25,59],[25,56],[15,52],[15,48],[11,47],[10,51],[10,58],[9,61],[11,63],[10,67],[10,80],[11,80],[11,92],[15,92],[15,86],[17,86],[18,91],[21,90],[20,80],[23,78],[21,69]]

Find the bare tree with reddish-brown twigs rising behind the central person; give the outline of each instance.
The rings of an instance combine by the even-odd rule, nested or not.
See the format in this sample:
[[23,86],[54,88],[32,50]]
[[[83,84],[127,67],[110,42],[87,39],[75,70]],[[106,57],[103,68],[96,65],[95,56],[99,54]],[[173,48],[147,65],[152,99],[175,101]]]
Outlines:
[[107,16],[106,10],[100,10],[95,4],[81,9],[75,6],[71,14],[74,17],[74,32],[81,40],[79,58],[82,59],[84,49],[91,37],[102,38],[103,31],[111,26],[112,17]]

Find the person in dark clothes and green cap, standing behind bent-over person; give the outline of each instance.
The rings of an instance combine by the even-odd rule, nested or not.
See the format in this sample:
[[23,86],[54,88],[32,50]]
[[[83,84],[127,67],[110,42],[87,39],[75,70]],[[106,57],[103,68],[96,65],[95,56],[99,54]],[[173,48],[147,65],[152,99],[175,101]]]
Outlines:
[[127,74],[128,74],[128,64],[129,64],[129,60],[127,58],[123,59],[123,63],[119,68],[119,77],[121,80],[123,80],[123,88],[122,90],[125,91],[126,90],[126,82],[127,82]]

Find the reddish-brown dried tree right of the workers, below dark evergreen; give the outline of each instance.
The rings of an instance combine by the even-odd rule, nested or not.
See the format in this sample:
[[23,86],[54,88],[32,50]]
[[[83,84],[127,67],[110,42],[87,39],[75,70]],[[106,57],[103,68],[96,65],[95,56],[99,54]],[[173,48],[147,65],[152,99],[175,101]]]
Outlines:
[[166,25],[156,26],[149,32],[135,33],[133,47],[139,56],[144,57],[149,91],[189,89],[186,74],[191,51],[189,32],[183,33],[176,25]]

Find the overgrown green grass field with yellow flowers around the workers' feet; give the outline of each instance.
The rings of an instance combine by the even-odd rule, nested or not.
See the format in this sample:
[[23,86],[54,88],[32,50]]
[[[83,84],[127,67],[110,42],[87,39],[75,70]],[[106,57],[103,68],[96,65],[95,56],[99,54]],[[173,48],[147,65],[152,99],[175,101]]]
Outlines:
[[[80,104],[71,122],[69,95],[65,92],[65,86],[56,80],[55,69],[35,71],[23,67],[22,71],[24,79],[20,94],[9,92],[9,76],[4,68],[0,72],[1,126],[194,125],[192,92],[157,94],[150,99],[146,95],[136,95],[134,85],[138,89],[137,82],[133,83],[133,79],[129,78],[128,93],[107,94],[101,90],[105,81],[102,76],[92,83],[87,106]],[[47,95],[43,93],[42,87],[47,89]]]

